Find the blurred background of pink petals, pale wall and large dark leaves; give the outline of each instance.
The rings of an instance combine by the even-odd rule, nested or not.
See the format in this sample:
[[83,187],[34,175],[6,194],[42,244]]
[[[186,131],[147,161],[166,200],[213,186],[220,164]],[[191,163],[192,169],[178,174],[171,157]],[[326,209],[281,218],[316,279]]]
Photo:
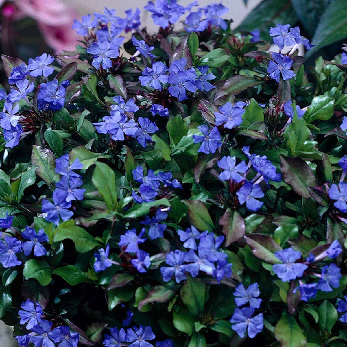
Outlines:
[[[191,2],[192,0],[178,0],[183,6]],[[222,2],[229,7],[229,12],[223,17],[233,20],[233,29],[259,31],[261,40],[271,40],[269,28],[276,24],[299,26],[301,33],[315,45],[311,51],[306,52],[308,65],[313,65],[314,59],[320,55],[325,59],[332,59],[341,53],[341,47],[346,42],[347,0],[198,2],[201,7]],[[74,18],[81,19],[81,16],[88,13],[102,12],[104,7],[116,9],[120,17],[124,17],[124,11],[129,8],[139,8],[142,10],[140,28],[146,27],[147,32],[154,33],[158,27],[153,24],[150,13],[143,11],[145,5],[147,0],[0,0],[0,52],[27,62],[29,58],[44,52],[54,54],[62,50],[73,51],[78,40],[82,39],[71,29]],[[183,22],[184,17],[175,24],[175,29],[183,28]],[[122,35],[130,39],[132,32]],[[7,83],[1,62],[0,83]],[[0,293],[4,290],[0,285]],[[0,347],[15,346],[18,345],[12,338],[11,328],[0,321]]]

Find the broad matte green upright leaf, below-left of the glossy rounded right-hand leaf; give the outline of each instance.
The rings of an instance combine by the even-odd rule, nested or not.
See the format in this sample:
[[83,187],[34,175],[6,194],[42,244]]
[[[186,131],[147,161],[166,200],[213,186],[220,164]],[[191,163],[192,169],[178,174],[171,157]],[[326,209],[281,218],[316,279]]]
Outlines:
[[291,155],[296,156],[299,151],[303,150],[304,142],[310,134],[310,129],[307,128],[306,122],[303,118],[289,124],[284,131],[284,138]]

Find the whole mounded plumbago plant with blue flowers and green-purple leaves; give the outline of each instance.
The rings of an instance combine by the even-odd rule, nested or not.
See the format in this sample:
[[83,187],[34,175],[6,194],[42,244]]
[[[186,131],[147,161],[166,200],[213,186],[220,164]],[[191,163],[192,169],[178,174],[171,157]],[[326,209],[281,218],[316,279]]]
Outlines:
[[2,320],[20,346],[345,346],[347,54],[145,9],[156,34],[76,20],[62,67],[2,56]]

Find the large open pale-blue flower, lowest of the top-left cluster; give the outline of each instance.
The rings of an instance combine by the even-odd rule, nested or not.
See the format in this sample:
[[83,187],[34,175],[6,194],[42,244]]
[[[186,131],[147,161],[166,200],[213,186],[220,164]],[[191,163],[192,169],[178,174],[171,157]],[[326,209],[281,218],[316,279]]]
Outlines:
[[100,66],[104,70],[112,67],[112,61],[110,58],[117,58],[119,56],[119,46],[113,42],[93,42],[87,49],[87,53],[93,54],[92,65],[95,69],[99,69]]

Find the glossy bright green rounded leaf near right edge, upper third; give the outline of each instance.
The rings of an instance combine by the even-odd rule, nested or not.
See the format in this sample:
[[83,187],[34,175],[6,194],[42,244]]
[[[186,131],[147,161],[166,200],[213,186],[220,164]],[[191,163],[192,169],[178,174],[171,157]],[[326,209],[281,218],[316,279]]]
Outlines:
[[304,114],[304,119],[307,123],[312,123],[314,120],[329,120],[334,111],[334,99],[329,96],[315,96],[311,105],[307,108]]

